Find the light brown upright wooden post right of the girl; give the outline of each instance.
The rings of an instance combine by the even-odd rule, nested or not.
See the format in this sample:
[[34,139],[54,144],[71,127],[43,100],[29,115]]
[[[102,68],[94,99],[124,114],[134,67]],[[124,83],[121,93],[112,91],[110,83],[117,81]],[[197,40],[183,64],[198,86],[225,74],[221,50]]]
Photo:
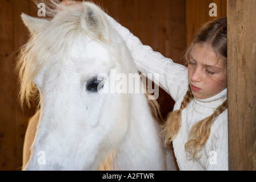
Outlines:
[[256,169],[256,1],[228,0],[229,169]]

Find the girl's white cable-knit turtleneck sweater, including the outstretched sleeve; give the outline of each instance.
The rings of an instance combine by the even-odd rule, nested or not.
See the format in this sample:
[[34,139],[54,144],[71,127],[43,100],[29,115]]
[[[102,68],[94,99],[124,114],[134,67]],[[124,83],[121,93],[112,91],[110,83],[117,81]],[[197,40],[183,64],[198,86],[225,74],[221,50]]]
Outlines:
[[[188,89],[187,68],[173,63],[171,59],[154,52],[149,46],[143,46],[141,41],[129,30],[107,16],[110,24],[121,35],[130,49],[134,62],[141,73],[158,73],[159,86],[175,101],[174,110],[179,109]],[[227,89],[217,95],[199,100],[193,98],[190,104],[182,110],[182,123],[177,137],[173,140],[174,154],[180,170],[228,170],[228,123],[227,109],[215,118],[211,125],[211,134],[205,148],[199,153],[201,158],[188,159],[185,143],[189,139],[191,127],[213,114],[214,110],[227,98]]]

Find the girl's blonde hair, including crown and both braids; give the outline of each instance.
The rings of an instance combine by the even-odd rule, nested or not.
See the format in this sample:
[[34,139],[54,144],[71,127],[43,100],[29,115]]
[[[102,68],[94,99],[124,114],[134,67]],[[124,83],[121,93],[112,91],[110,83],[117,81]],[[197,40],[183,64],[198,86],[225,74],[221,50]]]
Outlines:
[[[189,48],[185,52],[185,60],[188,61],[191,52],[195,45],[207,45],[217,53],[219,59],[221,59],[225,65],[227,65],[227,19],[219,18],[212,20],[205,25],[197,32],[194,36],[193,41],[191,42]],[[165,137],[165,143],[171,143],[178,134],[179,128],[181,127],[182,120],[182,110],[189,105],[190,101],[193,100],[194,96],[189,89],[187,90],[185,97],[181,103],[181,107],[178,110],[175,110],[169,113],[165,124],[162,126],[162,134]],[[211,125],[213,124],[216,117],[219,114],[223,113],[227,109],[227,100],[223,102],[222,105],[215,109],[214,113],[209,117],[202,119],[195,123],[191,127],[189,140],[185,144],[185,150],[189,158],[198,158],[198,152],[200,152],[207,139],[210,137]]]

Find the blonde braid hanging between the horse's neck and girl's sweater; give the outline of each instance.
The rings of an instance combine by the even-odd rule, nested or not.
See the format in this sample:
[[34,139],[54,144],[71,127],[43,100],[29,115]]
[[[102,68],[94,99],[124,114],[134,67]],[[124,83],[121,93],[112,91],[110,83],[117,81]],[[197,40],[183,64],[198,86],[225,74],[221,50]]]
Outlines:
[[165,137],[165,144],[171,143],[178,134],[179,128],[181,127],[181,113],[182,110],[187,107],[190,101],[194,98],[190,86],[187,90],[186,95],[183,98],[181,107],[178,110],[172,111],[167,116],[165,124],[162,126],[162,134]]

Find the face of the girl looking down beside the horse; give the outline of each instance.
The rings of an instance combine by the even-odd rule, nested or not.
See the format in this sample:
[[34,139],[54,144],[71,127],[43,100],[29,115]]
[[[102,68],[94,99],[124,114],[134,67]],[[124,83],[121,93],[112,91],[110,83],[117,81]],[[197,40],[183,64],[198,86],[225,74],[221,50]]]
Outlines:
[[192,94],[198,99],[213,97],[227,87],[225,64],[209,47],[194,47],[188,71]]

